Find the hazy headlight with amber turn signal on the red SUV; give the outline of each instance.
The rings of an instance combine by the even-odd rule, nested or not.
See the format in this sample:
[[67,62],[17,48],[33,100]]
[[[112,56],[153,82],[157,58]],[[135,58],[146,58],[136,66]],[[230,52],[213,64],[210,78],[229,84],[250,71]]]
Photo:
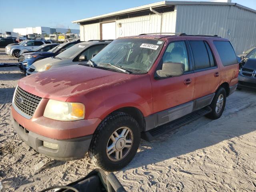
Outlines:
[[84,119],[85,107],[82,103],[62,102],[50,99],[44,110],[44,117],[60,121]]

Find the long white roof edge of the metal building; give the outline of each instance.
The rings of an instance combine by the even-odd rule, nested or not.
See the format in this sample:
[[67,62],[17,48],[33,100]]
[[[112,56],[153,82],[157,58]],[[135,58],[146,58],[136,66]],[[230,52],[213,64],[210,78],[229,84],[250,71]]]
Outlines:
[[76,21],[72,21],[72,23],[88,22],[88,21],[92,21],[92,20],[108,18],[108,17],[111,17],[111,16],[118,16],[118,15],[121,15],[121,14],[128,14],[128,13],[132,13],[132,12],[148,10],[150,7],[157,8],[157,7],[162,7],[162,6],[175,6],[175,5],[228,5],[228,6],[236,6],[238,8],[256,13],[256,10],[248,8],[246,6],[242,6],[242,5],[237,4],[237,3],[202,2],[202,1],[200,1],[200,2],[196,2],[196,1],[161,1],[161,2],[157,2],[157,3],[152,3],[152,4],[147,4],[147,5],[143,5],[143,6],[139,6],[139,7],[134,7],[134,8],[130,8],[130,9],[116,11],[116,12],[112,12],[112,13],[108,13],[108,14],[103,14],[103,15],[99,15],[99,16],[94,16],[94,17],[90,17],[90,18],[76,20]]

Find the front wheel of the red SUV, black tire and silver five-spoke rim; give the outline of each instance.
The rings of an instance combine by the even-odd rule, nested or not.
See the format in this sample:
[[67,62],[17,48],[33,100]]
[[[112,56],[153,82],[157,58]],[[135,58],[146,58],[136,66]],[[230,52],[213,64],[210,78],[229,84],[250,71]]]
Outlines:
[[114,112],[94,132],[88,153],[97,166],[112,172],[134,158],[139,144],[138,122],[126,113]]

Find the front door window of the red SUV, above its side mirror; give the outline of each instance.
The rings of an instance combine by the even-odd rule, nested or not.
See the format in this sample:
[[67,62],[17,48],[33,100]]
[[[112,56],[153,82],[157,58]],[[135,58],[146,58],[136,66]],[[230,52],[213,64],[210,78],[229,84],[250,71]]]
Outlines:
[[163,62],[183,63],[185,71],[188,71],[188,52],[185,42],[177,41],[170,43],[164,52]]

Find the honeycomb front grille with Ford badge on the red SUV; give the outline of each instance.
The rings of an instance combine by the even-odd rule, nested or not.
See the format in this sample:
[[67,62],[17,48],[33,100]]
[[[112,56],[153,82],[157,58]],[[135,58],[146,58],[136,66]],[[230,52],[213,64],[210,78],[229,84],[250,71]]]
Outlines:
[[41,99],[41,97],[26,92],[18,86],[14,97],[14,104],[20,111],[32,117]]

